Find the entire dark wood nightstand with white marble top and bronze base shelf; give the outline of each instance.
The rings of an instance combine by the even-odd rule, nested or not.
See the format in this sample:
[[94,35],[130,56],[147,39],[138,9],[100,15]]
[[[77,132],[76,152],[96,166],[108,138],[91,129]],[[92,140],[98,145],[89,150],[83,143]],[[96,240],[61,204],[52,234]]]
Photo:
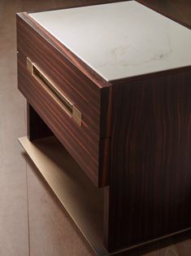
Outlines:
[[189,230],[190,30],[135,1],[20,13],[17,50],[20,142],[96,254]]

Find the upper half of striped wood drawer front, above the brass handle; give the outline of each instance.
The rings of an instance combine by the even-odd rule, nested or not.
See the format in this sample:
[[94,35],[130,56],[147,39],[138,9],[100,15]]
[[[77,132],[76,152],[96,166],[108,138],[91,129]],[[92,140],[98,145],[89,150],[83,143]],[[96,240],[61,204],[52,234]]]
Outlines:
[[[109,99],[111,85],[108,82],[95,83],[79,70],[67,53],[58,46],[58,42],[50,39],[46,30],[37,27],[28,15],[17,15],[17,50],[29,57],[57,85],[59,90],[79,108],[82,113],[82,125],[100,138],[109,137],[111,117]],[[24,60],[26,61],[26,60]],[[101,103],[102,94],[104,101]],[[102,111],[102,112],[101,112]],[[104,126],[102,126],[104,124]]]

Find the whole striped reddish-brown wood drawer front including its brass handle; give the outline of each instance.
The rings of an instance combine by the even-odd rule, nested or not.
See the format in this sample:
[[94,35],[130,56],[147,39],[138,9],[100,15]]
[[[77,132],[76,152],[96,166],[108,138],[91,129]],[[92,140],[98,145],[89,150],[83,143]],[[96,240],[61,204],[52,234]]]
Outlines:
[[67,58],[27,14],[17,15],[18,87],[98,187],[108,184],[111,86]]

